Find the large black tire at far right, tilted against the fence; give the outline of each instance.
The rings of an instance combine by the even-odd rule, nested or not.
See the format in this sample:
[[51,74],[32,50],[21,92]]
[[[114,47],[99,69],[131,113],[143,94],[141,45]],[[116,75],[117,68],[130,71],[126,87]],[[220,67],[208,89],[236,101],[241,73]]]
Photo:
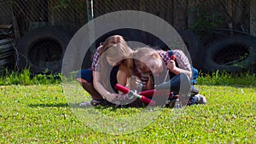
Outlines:
[[203,69],[242,72],[256,62],[256,38],[247,35],[220,38],[207,45]]

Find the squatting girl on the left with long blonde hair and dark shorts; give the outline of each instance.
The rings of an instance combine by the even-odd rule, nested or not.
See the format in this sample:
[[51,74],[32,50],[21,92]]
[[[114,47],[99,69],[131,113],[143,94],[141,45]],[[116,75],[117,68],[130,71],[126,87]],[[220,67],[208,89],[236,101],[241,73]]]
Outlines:
[[[109,48],[112,48],[112,49],[109,49]],[[109,51],[107,51],[108,49]],[[125,58],[126,55],[130,55],[130,53],[131,53],[131,49],[127,46],[124,37],[120,35],[113,35],[111,37],[108,37],[103,43],[101,43],[101,45],[96,49],[95,55],[93,56],[91,68],[81,70],[77,74],[76,79],[79,81],[82,87],[91,95],[91,98],[92,98],[91,101],[85,101],[81,103],[80,106],[92,106],[92,105],[96,106],[98,104],[106,103],[106,101],[102,96],[108,98],[108,92],[107,92],[108,90],[104,88],[105,86],[107,86],[107,84],[105,84],[103,80],[100,79],[100,78],[108,79],[107,78],[108,75],[106,74],[106,72],[104,73],[104,69],[105,69],[104,67],[108,66],[108,63],[106,62],[109,61],[114,63],[116,61],[113,60],[112,58],[114,57],[117,58],[118,57],[117,55],[121,55],[120,57]],[[101,58],[102,55],[105,58]],[[108,60],[107,60],[107,56],[108,56]],[[116,63],[118,62],[119,61],[117,61]],[[126,60],[120,63],[125,63],[125,62]],[[123,68],[124,68],[123,65],[120,66],[119,73],[123,72]],[[102,70],[100,71],[100,69]],[[109,81],[109,79],[107,81]],[[102,84],[104,85],[104,87],[102,87],[103,86]],[[95,86],[97,87],[97,90]],[[99,92],[101,90],[102,92]]]

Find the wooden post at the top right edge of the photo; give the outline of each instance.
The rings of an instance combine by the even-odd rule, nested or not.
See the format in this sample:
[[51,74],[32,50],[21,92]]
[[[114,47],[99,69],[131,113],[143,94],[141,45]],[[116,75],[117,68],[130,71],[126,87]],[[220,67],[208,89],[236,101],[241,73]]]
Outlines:
[[250,34],[256,36],[256,1],[250,1]]

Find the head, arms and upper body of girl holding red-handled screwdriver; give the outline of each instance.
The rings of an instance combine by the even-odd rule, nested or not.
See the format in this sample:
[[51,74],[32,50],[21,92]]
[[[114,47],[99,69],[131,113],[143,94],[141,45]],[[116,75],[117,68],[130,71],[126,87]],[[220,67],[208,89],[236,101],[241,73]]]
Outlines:
[[[169,51],[154,50],[149,47],[144,47],[135,50],[133,55],[135,61],[133,69],[136,71],[136,75],[141,79],[144,89],[153,88],[153,85],[147,86],[152,75],[159,76],[159,79],[164,79],[163,77],[166,76],[165,69],[169,70],[171,75],[170,79],[178,73],[185,73],[191,78],[191,66],[187,56],[183,54],[182,50],[172,50],[171,54]],[[172,55],[176,56],[176,60],[171,60]]]

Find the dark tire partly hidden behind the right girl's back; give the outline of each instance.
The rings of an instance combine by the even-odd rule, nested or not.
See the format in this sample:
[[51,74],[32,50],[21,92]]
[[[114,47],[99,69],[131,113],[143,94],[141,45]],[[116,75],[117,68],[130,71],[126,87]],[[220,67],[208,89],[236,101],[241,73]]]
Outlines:
[[189,30],[178,31],[183,42],[186,44],[189,50],[189,55],[192,60],[192,64],[195,68],[201,69],[204,61],[205,50],[199,37],[194,32]]

